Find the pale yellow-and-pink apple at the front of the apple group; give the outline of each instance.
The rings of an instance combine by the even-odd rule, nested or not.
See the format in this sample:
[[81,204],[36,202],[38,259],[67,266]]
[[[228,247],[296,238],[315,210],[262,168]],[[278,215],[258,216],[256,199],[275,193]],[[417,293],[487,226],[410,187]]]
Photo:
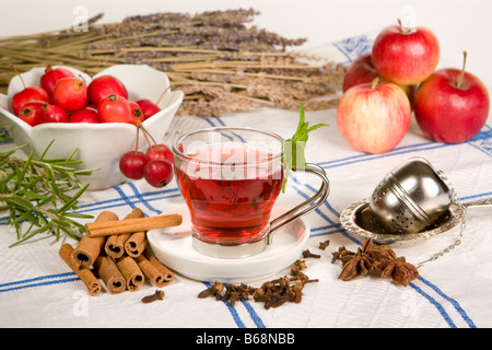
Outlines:
[[396,84],[380,82],[349,89],[337,108],[338,129],[355,150],[380,154],[394,149],[407,133],[411,108],[405,92]]

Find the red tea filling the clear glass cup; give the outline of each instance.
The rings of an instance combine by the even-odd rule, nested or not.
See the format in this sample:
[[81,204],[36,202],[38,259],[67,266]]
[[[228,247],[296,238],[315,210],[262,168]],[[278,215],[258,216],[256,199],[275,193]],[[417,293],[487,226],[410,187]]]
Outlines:
[[220,244],[260,240],[282,189],[283,167],[274,154],[265,148],[226,143],[188,155],[203,160],[176,167],[198,237]]

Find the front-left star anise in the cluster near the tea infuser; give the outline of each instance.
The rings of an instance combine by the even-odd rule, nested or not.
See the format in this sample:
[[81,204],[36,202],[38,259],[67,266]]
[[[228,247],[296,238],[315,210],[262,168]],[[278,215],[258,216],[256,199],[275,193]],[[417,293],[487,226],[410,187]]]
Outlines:
[[350,252],[343,250],[340,254],[343,268],[338,278],[343,281],[350,281],[377,268],[378,261],[370,254],[372,246],[373,241],[367,240],[362,245],[362,249],[358,248],[358,253],[350,254]]

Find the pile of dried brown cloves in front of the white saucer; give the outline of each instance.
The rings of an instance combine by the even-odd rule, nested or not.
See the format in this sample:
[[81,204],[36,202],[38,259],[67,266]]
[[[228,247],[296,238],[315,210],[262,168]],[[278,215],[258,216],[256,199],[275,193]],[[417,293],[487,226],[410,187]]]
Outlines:
[[265,282],[259,288],[246,283],[232,284],[215,281],[212,285],[198,294],[198,298],[214,298],[216,301],[229,302],[232,306],[237,301],[253,299],[263,303],[265,308],[279,307],[288,302],[300,303],[303,296],[304,285],[318,280],[309,279],[301,270],[306,268],[304,260],[297,260],[291,268],[291,276],[284,276]]

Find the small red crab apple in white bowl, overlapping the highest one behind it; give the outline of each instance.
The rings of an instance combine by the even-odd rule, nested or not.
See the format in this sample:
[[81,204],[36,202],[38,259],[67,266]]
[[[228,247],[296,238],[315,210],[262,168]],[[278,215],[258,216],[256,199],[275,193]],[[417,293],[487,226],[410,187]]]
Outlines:
[[87,86],[79,78],[60,79],[52,92],[52,103],[67,112],[74,112],[87,104]]

